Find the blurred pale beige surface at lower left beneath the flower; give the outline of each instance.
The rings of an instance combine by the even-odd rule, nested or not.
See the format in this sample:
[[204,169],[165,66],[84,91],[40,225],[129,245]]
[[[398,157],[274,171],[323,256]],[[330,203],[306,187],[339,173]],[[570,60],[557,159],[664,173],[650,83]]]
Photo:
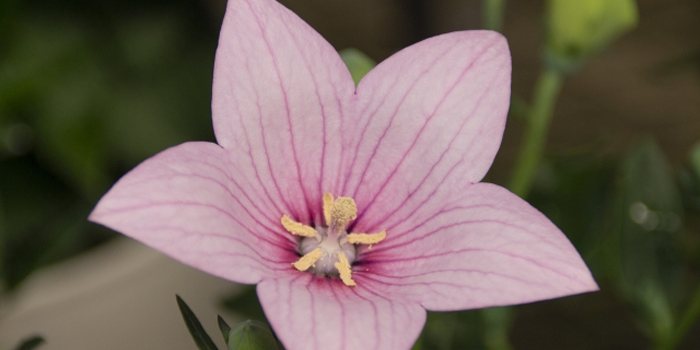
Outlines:
[[121,238],[33,274],[0,308],[0,349],[40,334],[41,350],[196,349],[175,302],[179,294],[224,348],[217,310],[240,287]]

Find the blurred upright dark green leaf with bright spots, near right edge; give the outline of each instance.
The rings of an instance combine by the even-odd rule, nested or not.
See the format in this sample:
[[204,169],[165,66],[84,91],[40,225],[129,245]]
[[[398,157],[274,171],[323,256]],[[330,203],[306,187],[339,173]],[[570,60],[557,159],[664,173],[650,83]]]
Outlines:
[[680,194],[666,157],[652,140],[625,155],[618,175],[611,240],[606,242],[614,262],[610,267],[623,295],[647,316],[651,336],[666,339],[685,272]]

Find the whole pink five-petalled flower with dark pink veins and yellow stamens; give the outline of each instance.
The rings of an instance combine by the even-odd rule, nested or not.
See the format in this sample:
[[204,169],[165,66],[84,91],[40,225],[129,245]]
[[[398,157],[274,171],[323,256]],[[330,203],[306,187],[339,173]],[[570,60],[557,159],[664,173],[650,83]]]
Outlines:
[[426,309],[596,290],[546,217],[478,183],[501,142],[510,75],[502,36],[455,32],[396,53],[355,89],[294,13],[229,0],[214,70],[218,145],[146,160],[90,220],[257,284],[292,350],[408,349]]

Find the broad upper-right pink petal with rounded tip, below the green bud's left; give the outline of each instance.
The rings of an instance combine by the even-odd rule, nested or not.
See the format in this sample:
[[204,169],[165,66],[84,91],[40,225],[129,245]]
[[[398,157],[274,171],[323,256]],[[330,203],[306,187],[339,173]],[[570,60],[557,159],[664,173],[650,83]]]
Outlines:
[[505,38],[469,31],[422,41],[367,74],[343,161],[342,193],[360,208],[356,231],[410,215],[439,186],[484,176],[501,143],[510,72]]

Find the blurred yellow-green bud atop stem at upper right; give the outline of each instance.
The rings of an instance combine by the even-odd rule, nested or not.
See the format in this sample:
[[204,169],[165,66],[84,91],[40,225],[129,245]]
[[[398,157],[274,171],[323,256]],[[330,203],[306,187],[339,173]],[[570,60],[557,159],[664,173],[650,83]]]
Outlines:
[[637,25],[634,0],[549,0],[547,48],[560,60],[585,59]]

